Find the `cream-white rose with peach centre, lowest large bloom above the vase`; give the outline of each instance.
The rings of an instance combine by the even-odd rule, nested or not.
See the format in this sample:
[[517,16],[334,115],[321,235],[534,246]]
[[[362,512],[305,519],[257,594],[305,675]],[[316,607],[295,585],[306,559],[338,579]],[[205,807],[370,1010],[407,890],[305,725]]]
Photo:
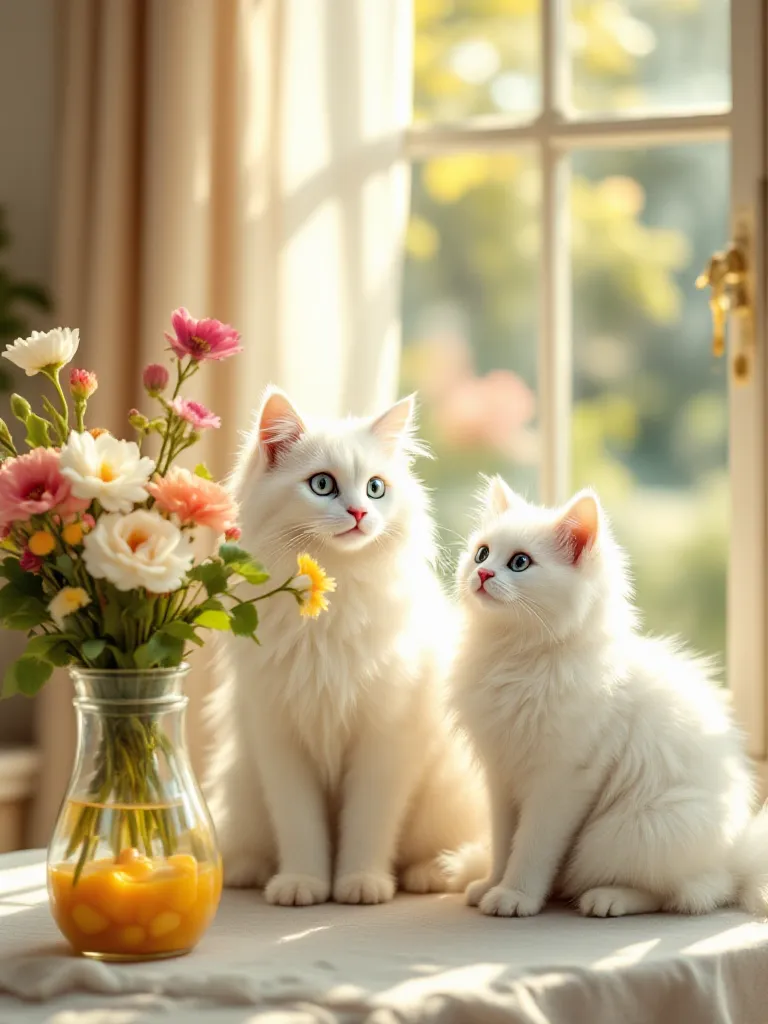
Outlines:
[[102,515],[83,541],[85,567],[118,590],[144,587],[153,594],[178,590],[191,568],[187,534],[158,512]]

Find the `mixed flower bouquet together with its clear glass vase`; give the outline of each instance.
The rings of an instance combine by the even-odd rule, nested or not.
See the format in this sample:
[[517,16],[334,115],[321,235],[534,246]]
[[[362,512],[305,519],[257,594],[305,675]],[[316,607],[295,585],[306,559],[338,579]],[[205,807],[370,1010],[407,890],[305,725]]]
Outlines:
[[[203,645],[208,630],[258,643],[259,601],[287,594],[300,613],[315,615],[333,589],[305,555],[296,575],[267,589],[267,570],[238,543],[230,495],[203,464],[194,471],[176,464],[203,431],[220,424],[185,396],[185,385],[204,364],[241,347],[230,327],[195,319],[183,308],[173,313],[172,328],[166,335],[172,370],[161,364],[144,370],[155,412],[130,412],[131,440],[87,428],[93,373],[71,370],[65,393],[61,370],[78,350],[78,331],[35,332],[2,353],[52,389],[42,415],[22,395],[11,396],[25,454],[0,420],[0,625],[29,638],[5,673],[2,693],[33,695],[55,667],[71,667],[79,755],[57,826],[51,889],[59,907],[67,904],[57,915],[62,931],[92,955],[119,957],[126,947],[167,955],[189,944],[178,932],[186,925],[176,923],[171,935],[184,902],[178,893],[176,903],[166,893],[170,903],[152,904],[143,924],[128,912],[136,908],[135,892],[124,901],[122,923],[104,912],[120,902],[115,865],[121,878],[147,881],[160,859],[168,889],[170,876],[188,882],[193,866],[198,878],[204,860],[216,860],[183,734],[171,721],[184,702],[187,651]],[[142,453],[151,438],[155,457]],[[196,556],[213,538],[208,550],[215,553]],[[109,853],[105,861],[97,860],[99,851]],[[73,892],[89,886],[91,896],[77,896],[75,905]],[[101,899],[99,886],[109,898]],[[141,891],[148,892],[146,885]]]

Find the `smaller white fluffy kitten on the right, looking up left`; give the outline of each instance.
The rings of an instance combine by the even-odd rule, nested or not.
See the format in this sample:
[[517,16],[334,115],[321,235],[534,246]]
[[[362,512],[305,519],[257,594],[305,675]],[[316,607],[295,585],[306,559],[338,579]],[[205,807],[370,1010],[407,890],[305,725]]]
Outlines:
[[454,698],[484,767],[493,863],[467,900],[584,914],[768,906],[768,818],[706,663],[638,634],[595,495],[558,511],[489,481],[458,573]]

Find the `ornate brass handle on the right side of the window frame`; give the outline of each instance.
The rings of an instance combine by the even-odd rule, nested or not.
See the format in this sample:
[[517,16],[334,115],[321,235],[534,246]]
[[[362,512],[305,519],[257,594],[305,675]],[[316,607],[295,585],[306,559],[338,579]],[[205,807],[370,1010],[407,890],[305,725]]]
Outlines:
[[723,252],[713,253],[707,268],[696,278],[696,288],[710,289],[713,355],[725,354],[728,315],[732,313],[735,317],[736,330],[728,333],[733,349],[731,368],[734,380],[739,384],[750,380],[755,362],[754,310],[748,252],[748,239],[742,230]]

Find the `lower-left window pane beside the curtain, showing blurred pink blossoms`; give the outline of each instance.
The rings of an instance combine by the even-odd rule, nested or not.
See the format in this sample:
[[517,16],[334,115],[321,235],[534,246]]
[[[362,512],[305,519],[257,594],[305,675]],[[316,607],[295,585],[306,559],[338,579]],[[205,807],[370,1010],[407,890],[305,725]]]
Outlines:
[[466,535],[479,472],[536,497],[539,165],[462,154],[413,167],[401,389],[419,391],[447,546]]

